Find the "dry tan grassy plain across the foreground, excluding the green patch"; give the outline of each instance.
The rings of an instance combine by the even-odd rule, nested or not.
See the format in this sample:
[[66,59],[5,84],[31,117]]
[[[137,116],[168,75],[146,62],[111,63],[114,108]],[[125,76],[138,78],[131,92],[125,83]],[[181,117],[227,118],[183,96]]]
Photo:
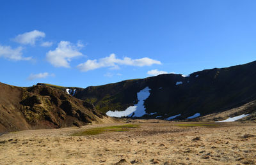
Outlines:
[[93,136],[71,134],[118,124],[2,134],[0,164],[256,164],[255,123],[182,127],[163,120],[126,122],[140,127]]

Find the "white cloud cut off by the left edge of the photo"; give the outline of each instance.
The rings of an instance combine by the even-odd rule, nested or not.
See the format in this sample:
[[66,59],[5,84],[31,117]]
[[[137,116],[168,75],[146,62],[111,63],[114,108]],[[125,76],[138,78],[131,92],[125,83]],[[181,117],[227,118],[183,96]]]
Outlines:
[[22,57],[22,47],[12,48],[10,46],[0,45],[0,57],[14,61],[31,60],[32,57]]

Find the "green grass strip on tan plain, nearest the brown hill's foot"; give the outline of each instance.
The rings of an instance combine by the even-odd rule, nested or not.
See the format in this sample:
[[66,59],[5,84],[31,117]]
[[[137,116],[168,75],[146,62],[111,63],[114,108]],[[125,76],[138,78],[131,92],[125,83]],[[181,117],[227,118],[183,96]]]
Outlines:
[[104,132],[125,132],[129,131],[131,128],[137,128],[139,125],[136,124],[127,124],[122,126],[110,126],[110,127],[97,127],[92,129],[86,129],[86,131],[78,132],[72,134],[72,136],[86,136],[86,135],[95,135],[101,134]]

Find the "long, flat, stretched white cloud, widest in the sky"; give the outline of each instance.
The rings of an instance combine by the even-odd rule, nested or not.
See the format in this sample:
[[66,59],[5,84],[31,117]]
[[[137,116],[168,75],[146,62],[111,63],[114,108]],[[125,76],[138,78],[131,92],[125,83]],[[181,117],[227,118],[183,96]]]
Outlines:
[[115,54],[109,55],[109,57],[104,57],[102,59],[88,60],[77,66],[81,71],[90,71],[98,68],[110,67],[111,69],[119,68],[118,65],[127,65],[127,66],[152,66],[152,64],[161,64],[160,61],[154,59],[149,59],[144,57],[141,59],[131,59],[129,57],[124,57],[124,59],[117,59]]

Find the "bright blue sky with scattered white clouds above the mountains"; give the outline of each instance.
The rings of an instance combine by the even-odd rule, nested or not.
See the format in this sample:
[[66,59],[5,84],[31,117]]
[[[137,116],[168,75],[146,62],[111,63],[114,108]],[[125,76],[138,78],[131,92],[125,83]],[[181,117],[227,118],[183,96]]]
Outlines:
[[0,1],[0,82],[103,85],[256,60],[256,1]]

